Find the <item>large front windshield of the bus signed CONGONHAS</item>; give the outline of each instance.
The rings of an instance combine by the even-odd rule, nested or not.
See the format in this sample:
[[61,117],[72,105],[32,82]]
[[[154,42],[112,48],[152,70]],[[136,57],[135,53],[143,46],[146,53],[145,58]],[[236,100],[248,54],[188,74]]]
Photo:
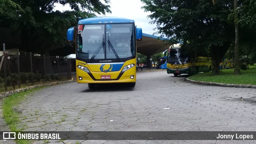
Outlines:
[[[79,26],[79,25],[78,25]],[[107,60],[136,56],[133,24],[90,24],[77,35],[76,57]]]

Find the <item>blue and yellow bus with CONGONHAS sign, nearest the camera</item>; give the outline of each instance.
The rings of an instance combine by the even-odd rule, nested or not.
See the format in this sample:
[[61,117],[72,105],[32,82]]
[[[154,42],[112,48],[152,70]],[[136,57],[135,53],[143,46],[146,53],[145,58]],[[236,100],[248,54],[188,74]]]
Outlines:
[[78,21],[68,29],[67,39],[76,39],[76,78],[90,89],[100,83],[136,84],[136,40],[142,29],[134,20],[95,17]]

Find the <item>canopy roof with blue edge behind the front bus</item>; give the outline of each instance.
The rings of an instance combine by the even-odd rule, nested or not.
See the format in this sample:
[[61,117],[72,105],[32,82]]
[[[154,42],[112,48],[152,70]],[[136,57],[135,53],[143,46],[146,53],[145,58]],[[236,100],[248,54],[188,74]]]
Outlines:
[[137,41],[137,52],[145,56],[152,56],[164,52],[170,47],[165,38],[158,38],[150,34],[142,33],[142,41]]

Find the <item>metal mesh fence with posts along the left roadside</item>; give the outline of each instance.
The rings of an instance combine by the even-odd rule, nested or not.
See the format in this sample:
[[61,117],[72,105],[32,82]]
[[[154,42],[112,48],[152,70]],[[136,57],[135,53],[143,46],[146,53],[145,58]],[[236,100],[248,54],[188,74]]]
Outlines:
[[71,79],[76,71],[75,59],[63,56],[45,56],[8,49],[0,51],[0,87],[22,82]]

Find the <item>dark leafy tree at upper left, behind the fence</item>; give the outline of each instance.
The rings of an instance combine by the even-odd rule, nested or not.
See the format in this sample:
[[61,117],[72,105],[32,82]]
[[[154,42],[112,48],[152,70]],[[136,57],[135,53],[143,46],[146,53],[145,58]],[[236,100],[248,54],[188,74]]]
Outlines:
[[[104,0],[2,0],[0,26],[15,28],[21,36],[21,48],[26,52],[49,51],[53,47],[64,48],[66,30],[75,26],[77,18],[96,16],[110,11]],[[69,4],[70,10],[54,11],[54,4]]]

